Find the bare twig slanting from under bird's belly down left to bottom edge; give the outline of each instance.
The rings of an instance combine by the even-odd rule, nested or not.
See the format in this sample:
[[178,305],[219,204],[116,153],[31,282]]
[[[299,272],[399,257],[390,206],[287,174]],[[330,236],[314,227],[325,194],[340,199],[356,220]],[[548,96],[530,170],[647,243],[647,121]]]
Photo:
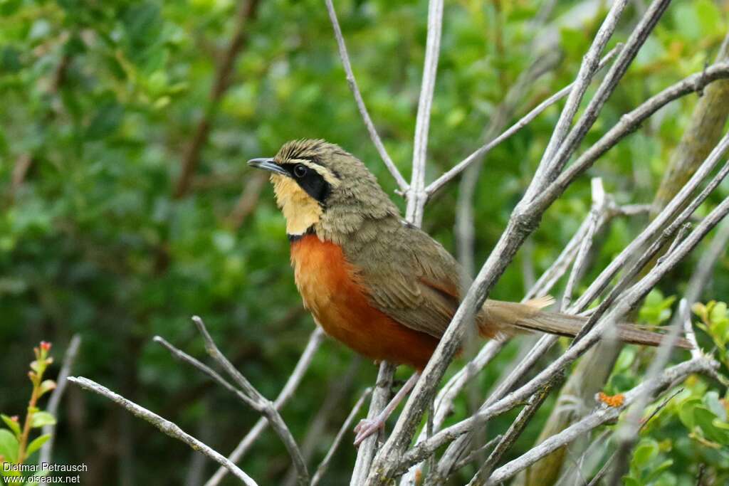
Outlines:
[[[316,326],[316,328],[314,328],[313,332],[311,332],[311,335],[309,336],[309,340],[306,344],[306,347],[304,348],[303,353],[301,353],[299,361],[294,367],[294,371],[289,376],[289,379],[286,380],[284,388],[281,388],[281,392],[278,393],[276,400],[273,401],[273,406],[276,407],[277,410],[281,409],[286,401],[289,401],[289,399],[293,396],[294,392],[301,383],[301,380],[303,379],[306,370],[309,368],[309,365],[311,365],[311,360],[313,359],[314,354],[316,354],[316,350],[319,349],[319,345],[321,345],[321,341],[323,339],[324,332],[319,326]],[[266,427],[268,427],[268,419],[266,419],[265,417],[258,419],[258,421],[255,423],[253,428],[251,428],[249,433],[246,434],[243,439],[241,439],[241,442],[238,442],[238,445],[235,446],[233,452],[230,452],[228,459],[233,463],[241,460],[241,458],[243,458],[243,455],[245,455],[246,452],[248,452],[248,450],[254,444],[254,442],[256,442],[256,439],[258,439],[262,432],[265,431]],[[219,485],[226,474],[227,469],[225,469],[225,467],[220,467],[217,471],[215,471],[215,474],[213,474],[212,477],[208,479],[208,482],[205,483],[205,486]]]

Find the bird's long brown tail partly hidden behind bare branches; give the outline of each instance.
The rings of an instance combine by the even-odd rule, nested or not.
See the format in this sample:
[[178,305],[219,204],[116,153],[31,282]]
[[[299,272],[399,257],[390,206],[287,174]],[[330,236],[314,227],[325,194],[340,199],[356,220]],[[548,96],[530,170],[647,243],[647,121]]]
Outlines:
[[[577,335],[587,318],[541,310],[541,307],[550,305],[552,302],[553,299],[549,297],[534,299],[523,304],[488,300],[483,306],[483,318],[479,323],[481,332],[486,335],[499,334],[499,332],[510,334],[510,331],[521,329],[566,337]],[[495,329],[498,329],[496,333],[493,332]],[[663,334],[639,329],[633,324],[617,326],[617,339],[623,342],[658,346],[663,342],[664,337]],[[693,349],[693,345],[683,337],[679,337],[676,345],[679,348]]]

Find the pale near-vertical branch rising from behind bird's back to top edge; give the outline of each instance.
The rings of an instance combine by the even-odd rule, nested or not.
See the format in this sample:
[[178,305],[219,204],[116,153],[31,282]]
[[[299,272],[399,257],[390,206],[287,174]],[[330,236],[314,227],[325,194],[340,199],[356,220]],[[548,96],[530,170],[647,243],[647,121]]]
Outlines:
[[408,189],[408,207],[405,218],[417,227],[423,221],[423,208],[428,200],[425,191],[425,162],[428,152],[428,131],[430,128],[430,109],[433,104],[435,75],[440,55],[440,33],[443,29],[443,0],[430,0],[428,4],[428,36],[423,64],[423,81],[418,101],[418,116],[413,143],[413,175]]

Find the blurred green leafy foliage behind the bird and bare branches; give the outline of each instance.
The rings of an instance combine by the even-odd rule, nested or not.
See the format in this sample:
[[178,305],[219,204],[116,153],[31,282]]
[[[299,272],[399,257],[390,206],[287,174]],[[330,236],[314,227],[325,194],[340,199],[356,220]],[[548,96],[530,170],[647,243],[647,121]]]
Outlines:
[[[609,47],[625,40],[647,3],[630,2]],[[511,123],[571,82],[606,4],[447,1],[426,179],[477,149],[497,114]],[[335,7],[364,100],[407,179],[427,2],[341,0]],[[728,12],[726,1],[672,2],[585,144],[620,114],[711,62],[727,33]],[[504,96],[541,57],[549,59],[548,68],[504,115]],[[295,289],[284,219],[265,175],[246,160],[271,156],[292,138],[326,138],[367,163],[404,208],[356,111],[324,2],[3,0],[0,99],[0,411],[23,415],[33,346],[51,341],[58,363],[77,333],[83,342],[74,375],[230,452],[257,413],[152,337],[204,359],[190,321],[202,316],[226,356],[270,399],[295,366],[314,324]],[[659,111],[582,176],[546,213],[493,297],[521,299],[531,275],[553,262],[588,213],[589,176],[601,176],[618,203],[650,203],[697,99],[690,95]],[[526,189],[559,106],[486,158],[473,197],[477,267]],[[707,207],[727,189],[722,185]],[[454,254],[458,197],[456,180],[426,207],[424,218],[424,229]],[[585,281],[645,223],[640,216],[618,219]],[[720,260],[706,299],[726,299],[728,264]],[[666,320],[666,298],[685,290],[692,271],[687,261],[661,282],[645,321]],[[487,393],[521,345],[520,339],[510,342],[480,375],[479,393]],[[652,352],[631,349],[647,357]],[[623,372],[625,387],[641,366]],[[49,375],[57,372],[54,365]],[[311,468],[376,373],[371,362],[330,340],[316,353],[282,410],[297,441],[306,444]],[[399,369],[397,377],[409,374]],[[510,457],[529,449],[551,407],[547,401]],[[459,400],[452,420],[465,410],[465,399]],[[505,430],[514,415],[493,420],[489,435]],[[53,460],[86,463],[84,485],[196,485],[217,469],[73,385],[57,431]],[[322,484],[348,484],[351,439]],[[673,479],[665,484],[693,478],[698,452],[689,446],[660,450],[673,454],[666,473]],[[267,431],[241,467],[262,485],[282,485],[289,458]]]

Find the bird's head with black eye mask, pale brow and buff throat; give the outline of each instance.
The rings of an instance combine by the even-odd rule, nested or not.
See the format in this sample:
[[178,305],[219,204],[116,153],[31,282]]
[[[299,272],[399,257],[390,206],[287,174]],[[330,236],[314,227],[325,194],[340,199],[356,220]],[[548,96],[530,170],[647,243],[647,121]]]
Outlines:
[[289,141],[275,157],[248,165],[271,173],[289,236],[315,231],[337,239],[367,219],[397,216],[397,207],[356,157],[323,140]]

